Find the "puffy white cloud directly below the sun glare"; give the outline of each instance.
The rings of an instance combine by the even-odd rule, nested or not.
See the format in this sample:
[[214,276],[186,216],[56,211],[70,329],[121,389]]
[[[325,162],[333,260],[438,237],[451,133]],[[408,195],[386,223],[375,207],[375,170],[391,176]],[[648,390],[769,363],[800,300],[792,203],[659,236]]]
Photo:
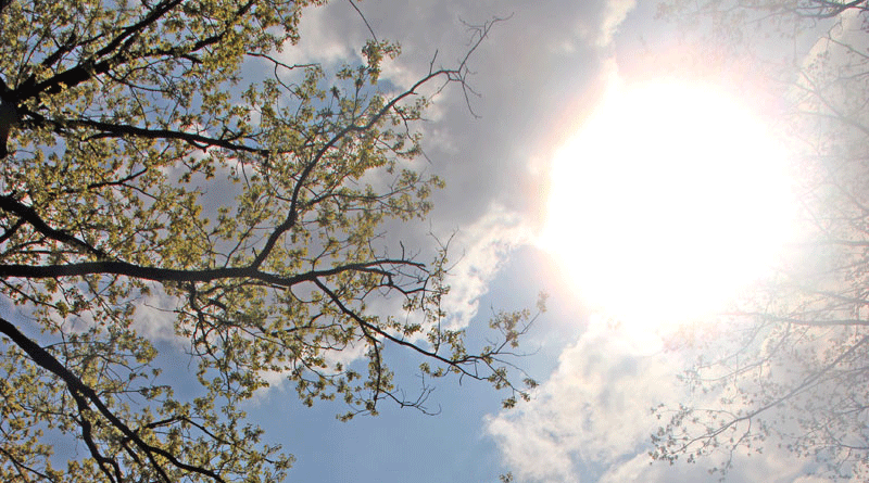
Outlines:
[[537,398],[489,420],[507,467],[521,480],[579,481],[582,468],[644,452],[658,424],[651,406],[681,393],[681,360],[663,346],[651,331],[592,317]]

